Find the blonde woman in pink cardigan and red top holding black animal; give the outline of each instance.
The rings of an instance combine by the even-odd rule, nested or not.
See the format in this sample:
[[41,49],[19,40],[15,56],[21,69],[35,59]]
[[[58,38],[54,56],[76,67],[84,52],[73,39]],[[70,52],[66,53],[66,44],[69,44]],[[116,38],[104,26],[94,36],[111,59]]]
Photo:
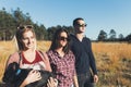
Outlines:
[[[48,57],[45,52],[36,50],[36,35],[32,25],[20,26],[16,30],[16,41],[19,46],[19,52],[10,55],[7,61],[5,70],[9,64],[16,62],[21,69],[33,69],[20,87],[41,79],[40,73],[37,70],[45,70],[51,72]],[[21,60],[20,60],[21,57]],[[48,87],[56,87],[53,78],[48,80]],[[11,85],[10,85],[11,87]]]

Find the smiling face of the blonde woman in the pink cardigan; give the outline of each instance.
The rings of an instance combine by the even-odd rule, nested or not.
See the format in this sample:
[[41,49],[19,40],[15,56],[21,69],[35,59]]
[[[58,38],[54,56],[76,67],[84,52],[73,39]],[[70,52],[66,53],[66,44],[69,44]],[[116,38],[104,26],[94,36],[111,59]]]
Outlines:
[[36,46],[36,38],[32,30],[25,32],[23,34],[22,44],[24,49],[34,49]]

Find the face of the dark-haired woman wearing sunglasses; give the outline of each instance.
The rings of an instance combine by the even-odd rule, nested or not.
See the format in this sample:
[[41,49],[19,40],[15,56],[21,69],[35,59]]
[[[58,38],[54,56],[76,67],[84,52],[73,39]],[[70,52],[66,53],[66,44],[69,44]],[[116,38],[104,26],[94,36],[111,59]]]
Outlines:
[[59,42],[60,42],[61,47],[64,47],[67,45],[67,42],[68,42],[68,35],[67,35],[66,32],[62,32],[60,34]]

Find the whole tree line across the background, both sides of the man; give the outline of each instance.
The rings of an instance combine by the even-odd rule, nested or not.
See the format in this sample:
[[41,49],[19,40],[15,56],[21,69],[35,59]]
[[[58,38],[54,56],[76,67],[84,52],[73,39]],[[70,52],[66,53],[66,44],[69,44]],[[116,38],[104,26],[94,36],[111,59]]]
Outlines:
[[[52,34],[58,28],[64,28],[69,33],[74,33],[73,26],[57,25],[46,28],[44,24],[34,23],[29,13],[23,13],[20,8],[12,10],[10,13],[5,11],[5,8],[2,8],[2,10],[0,10],[0,40],[11,40],[15,35],[17,26],[24,24],[34,26],[38,40],[51,40]],[[131,34],[126,37],[120,34],[117,38],[115,29],[110,29],[109,34],[102,29],[95,41],[131,41]]]

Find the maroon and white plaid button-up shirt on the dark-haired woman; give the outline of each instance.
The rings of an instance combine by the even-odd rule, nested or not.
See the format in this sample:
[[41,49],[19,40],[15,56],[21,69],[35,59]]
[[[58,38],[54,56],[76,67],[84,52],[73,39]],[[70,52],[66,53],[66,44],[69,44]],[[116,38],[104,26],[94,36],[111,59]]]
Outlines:
[[63,58],[59,55],[57,51],[48,51],[47,55],[49,58],[52,72],[59,82],[58,87],[71,87],[73,84],[73,76],[75,73],[75,58],[74,54],[69,51]]

